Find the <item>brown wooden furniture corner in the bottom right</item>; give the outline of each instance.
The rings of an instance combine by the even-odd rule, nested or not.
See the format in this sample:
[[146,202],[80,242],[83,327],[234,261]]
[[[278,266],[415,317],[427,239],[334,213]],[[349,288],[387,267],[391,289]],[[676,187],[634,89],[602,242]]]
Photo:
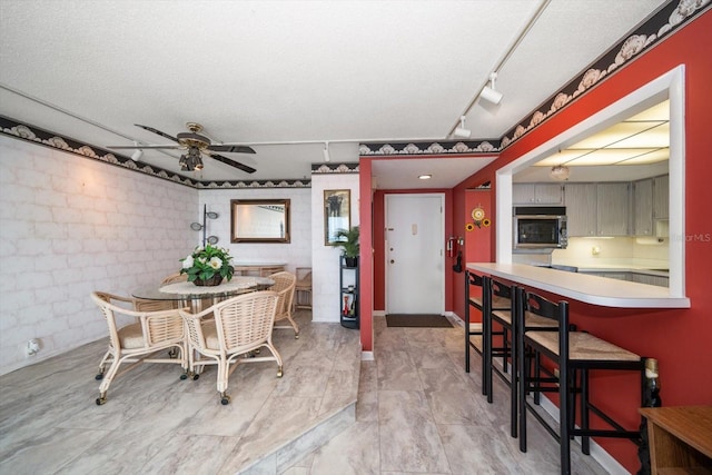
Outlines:
[[712,406],[644,407],[653,475],[712,474]]

